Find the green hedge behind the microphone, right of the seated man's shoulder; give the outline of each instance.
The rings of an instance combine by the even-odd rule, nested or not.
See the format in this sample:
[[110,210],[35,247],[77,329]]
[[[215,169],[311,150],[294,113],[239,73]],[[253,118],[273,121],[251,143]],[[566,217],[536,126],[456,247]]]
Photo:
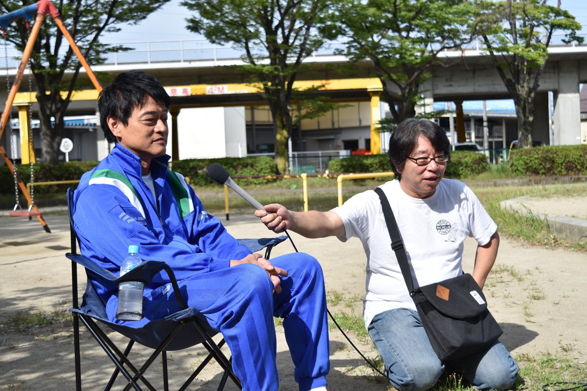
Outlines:
[[[248,157],[221,157],[219,159],[185,159],[173,162],[173,171],[185,177],[190,177],[190,184],[194,186],[210,186],[216,182],[208,177],[208,167],[217,163],[226,168],[231,177],[254,175],[277,175],[275,160],[267,156]],[[241,184],[263,184],[272,179],[236,180]]]

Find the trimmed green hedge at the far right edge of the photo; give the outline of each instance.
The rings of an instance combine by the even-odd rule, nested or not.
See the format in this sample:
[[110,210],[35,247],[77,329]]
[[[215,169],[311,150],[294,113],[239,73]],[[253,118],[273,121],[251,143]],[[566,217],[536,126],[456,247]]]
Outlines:
[[510,167],[521,175],[587,175],[587,144],[514,149]]

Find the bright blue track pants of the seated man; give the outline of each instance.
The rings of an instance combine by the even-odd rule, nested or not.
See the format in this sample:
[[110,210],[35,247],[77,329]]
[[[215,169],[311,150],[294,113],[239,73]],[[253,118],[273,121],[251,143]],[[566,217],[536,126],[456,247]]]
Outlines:
[[285,269],[281,294],[263,269],[244,264],[180,282],[181,295],[222,332],[243,390],[277,390],[273,317],[284,318],[285,338],[300,391],[326,385],[330,369],[322,268],[301,252],[271,259]]

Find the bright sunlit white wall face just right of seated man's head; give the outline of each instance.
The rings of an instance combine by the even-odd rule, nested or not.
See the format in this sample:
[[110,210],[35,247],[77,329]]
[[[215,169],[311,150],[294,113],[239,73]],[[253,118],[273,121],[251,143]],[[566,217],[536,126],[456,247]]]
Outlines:
[[180,160],[226,156],[224,107],[181,109],[177,128]]

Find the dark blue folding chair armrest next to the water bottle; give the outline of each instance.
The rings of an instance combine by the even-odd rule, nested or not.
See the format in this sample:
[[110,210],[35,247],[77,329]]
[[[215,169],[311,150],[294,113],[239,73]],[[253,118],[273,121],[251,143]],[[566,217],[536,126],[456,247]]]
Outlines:
[[154,275],[156,275],[161,270],[164,270],[167,272],[169,280],[171,281],[171,285],[173,286],[173,290],[176,294],[178,304],[182,309],[188,308],[187,305],[184,304],[183,299],[181,299],[176,275],[174,274],[173,269],[171,269],[165,262],[144,261],[141,262],[141,264],[136,268],[124,274],[122,277],[119,277],[113,272],[99,267],[95,262],[90,261],[90,259],[87,259],[83,255],[74,255],[68,252],[65,254],[65,257],[71,259],[77,264],[82,265],[90,274],[105,278],[114,282],[114,284],[118,284],[119,282],[123,281],[140,281],[143,282],[145,286],[147,286],[153,282]]

